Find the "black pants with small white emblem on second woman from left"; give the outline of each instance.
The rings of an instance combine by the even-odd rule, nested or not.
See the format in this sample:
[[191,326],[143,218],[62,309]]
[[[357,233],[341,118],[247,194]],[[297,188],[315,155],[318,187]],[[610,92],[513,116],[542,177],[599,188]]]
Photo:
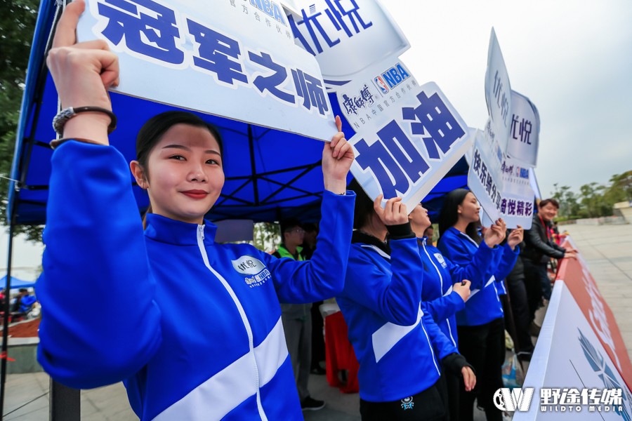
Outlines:
[[428,389],[399,401],[369,402],[360,399],[362,421],[447,421],[447,393],[440,377]]

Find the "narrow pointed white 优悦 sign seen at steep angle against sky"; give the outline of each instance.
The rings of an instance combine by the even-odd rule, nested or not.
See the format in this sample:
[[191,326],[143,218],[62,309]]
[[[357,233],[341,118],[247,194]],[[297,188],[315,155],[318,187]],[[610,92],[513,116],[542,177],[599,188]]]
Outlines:
[[490,131],[493,135],[491,138],[498,143],[503,154],[506,154],[511,129],[511,86],[494,28],[489,36],[489,50],[487,51],[485,101],[487,102],[487,112],[492,119]]

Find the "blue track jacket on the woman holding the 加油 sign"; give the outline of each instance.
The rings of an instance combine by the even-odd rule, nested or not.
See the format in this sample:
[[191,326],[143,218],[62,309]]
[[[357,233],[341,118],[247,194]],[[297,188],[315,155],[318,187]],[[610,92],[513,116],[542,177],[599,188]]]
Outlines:
[[389,255],[360,234],[354,233],[345,288],[336,302],[360,362],[360,398],[395,401],[434,385],[437,360],[457,350],[421,302],[416,239],[390,241]]

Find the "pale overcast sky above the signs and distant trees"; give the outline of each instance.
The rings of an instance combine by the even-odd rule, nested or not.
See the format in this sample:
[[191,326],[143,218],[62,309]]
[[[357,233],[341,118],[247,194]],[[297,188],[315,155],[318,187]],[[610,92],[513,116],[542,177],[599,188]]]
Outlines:
[[632,170],[632,1],[383,0],[411,48],[402,61],[435,81],[468,126],[487,121],[494,27],[511,88],[539,110],[536,177],[579,192]]

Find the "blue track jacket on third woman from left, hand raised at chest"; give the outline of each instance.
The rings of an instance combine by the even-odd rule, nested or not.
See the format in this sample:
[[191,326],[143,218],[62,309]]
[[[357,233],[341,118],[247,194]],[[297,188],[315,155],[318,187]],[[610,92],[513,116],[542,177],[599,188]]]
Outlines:
[[467,279],[473,284],[480,284],[489,272],[489,266],[496,262],[494,248],[481,243],[467,265],[454,265],[441,254],[435,246],[429,246],[427,237],[418,239],[419,254],[423,263],[423,288],[421,299],[428,312],[447,338],[455,347],[459,346],[456,336],[456,312],[466,306],[461,295],[452,290],[454,283]]

